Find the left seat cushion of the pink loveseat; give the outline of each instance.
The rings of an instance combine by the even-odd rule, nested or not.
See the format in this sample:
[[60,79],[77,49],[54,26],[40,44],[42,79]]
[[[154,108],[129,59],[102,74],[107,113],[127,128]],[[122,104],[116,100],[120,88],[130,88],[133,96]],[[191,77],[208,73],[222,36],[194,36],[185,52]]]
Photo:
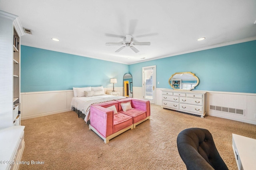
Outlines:
[[113,133],[116,133],[130,125],[132,125],[132,117],[120,112],[114,115]]

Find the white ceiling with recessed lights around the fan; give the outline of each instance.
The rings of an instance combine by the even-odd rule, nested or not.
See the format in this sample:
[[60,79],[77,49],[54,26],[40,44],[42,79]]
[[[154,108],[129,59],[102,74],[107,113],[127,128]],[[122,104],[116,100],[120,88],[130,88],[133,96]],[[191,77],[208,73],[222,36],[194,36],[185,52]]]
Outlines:
[[[256,39],[256,0],[0,0],[0,10],[32,29],[22,45],[124,64]],[[151,45],[105,45],[126,34]]]

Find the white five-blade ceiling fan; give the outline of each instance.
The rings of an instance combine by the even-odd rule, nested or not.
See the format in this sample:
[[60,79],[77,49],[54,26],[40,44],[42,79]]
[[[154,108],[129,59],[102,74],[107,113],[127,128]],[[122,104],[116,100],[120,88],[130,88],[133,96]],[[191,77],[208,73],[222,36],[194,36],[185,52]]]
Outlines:
[[124,43],[106,43],[106,45],[124,45],[120,49],[116,50],[115,52],[118,53],[124,47],[130,47],[135,53],[138,53],[138,49],[136,49],[133,45],[150,45],[150,42],[133,42],[132,35],[126,34],[126,37],[124,37]]

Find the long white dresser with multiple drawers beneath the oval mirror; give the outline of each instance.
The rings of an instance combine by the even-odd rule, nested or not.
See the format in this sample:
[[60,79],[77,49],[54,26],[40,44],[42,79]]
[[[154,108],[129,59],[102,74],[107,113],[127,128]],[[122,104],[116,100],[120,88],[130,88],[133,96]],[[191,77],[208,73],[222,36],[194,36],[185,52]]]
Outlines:
[[162,90],[162,108],[192,113],[204,117],[206,92]]

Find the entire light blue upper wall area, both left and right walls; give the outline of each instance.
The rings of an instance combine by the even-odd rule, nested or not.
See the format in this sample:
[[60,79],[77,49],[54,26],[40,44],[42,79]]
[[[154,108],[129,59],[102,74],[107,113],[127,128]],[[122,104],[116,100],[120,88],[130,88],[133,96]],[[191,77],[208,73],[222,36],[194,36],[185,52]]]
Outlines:
[[188,53],[137,64],[120,64],[56,51],[21,46],[21,92],[70,90],[72,87],[123,86],[132,74],[133,86],[142,87],[142,67],[156,65],[156,88],[170,88],[175,72],[193,72],[195,90],[256,93],[256,41]]

